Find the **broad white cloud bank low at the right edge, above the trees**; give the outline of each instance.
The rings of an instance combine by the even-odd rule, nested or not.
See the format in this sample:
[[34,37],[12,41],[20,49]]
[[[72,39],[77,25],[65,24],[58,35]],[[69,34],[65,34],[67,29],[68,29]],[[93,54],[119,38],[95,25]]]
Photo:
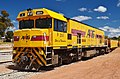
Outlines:
[[113,28],[110,26],[104,26],[104,27],[100,27],[99,29],[102,29],[106,32],[108,37],[118,37],[120,36],[120,28]]

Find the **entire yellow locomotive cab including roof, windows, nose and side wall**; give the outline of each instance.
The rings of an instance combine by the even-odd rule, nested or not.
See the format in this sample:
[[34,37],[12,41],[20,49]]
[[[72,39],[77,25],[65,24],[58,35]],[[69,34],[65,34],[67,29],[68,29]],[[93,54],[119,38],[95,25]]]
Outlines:
[[[64,38],[67,37],[67,20],[63,15],[44,8],[28,9],[20,12],[17,20],[19,30],[14,32],[14,47],[66,46],[64,42],[54,42],[67,42],[67,38]],[[63,38],[58,37],[54,40],[57,35]]]

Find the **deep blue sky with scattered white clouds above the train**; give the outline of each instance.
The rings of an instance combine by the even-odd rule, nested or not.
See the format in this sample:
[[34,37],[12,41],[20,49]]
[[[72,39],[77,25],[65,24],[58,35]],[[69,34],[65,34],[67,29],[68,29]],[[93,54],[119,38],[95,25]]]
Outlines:
[[6,10],[18,27],[17,14],[27,8],[48,8],[91,26],[109,37],[120,36],[120,0],[2,0],[0,11]]

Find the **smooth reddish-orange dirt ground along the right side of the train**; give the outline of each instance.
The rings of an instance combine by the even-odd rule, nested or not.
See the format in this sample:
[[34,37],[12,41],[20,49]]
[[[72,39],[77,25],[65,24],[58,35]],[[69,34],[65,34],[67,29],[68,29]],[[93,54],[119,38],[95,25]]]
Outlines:
[[30,75],[26,79],[120,79],[120,48],[106,55]]

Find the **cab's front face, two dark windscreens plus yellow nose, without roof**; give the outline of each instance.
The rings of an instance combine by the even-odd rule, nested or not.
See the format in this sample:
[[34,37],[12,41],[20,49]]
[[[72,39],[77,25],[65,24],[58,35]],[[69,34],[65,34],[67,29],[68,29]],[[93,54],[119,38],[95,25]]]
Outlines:
[[[34,23],[36,27],[34,26]],[[21,20],[19,21],[19,30],[14,32],[14,46],[44,47],[45,44],[50,44],[48,41],[51,30],[51,18]]]

